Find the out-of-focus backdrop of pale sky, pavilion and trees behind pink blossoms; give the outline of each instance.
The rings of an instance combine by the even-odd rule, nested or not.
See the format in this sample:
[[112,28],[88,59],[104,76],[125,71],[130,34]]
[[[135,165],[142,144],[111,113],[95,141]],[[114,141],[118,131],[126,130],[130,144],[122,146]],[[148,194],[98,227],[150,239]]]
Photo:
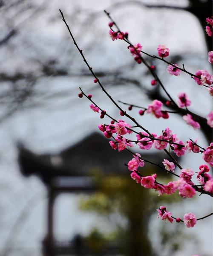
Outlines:
[[[211,217],[187,229],[164,224],[155,211],[165,205],[174,216],[194,212],[199,218],[212,211],[211,198],[158,197],[143,189],[124,166],[131,154],[113,151],[99,133],[98,125],[109,120],[99,119],[90,103],[78,98],[79,86],[116,119],[119,111],[93,83],[59,8],[116,101],[146,107],[166,96],[150,85],[152,77],[127,45],[109,38],[104,9],[145,52],[156,54],[158,44],[166,44],[172,63],[184,63],[192,73],[211,72],[207,52],[212,41],[204,27],[212,0],[1,0],[0,256],[211,256]],[[204,87],[187,74],[169,76],[161,61],[147,61],[156,65],[174,99],[186,92],[190,110],[207,116],[212,105]],[[139,116],[137,109],[130,113],[156,134],[169,126],[183,141],[199,138],[204,147],[210,141],[205,126],[195,131],[181,116],[161,120]],[[142,155],[158,163],[165,158],[155,150]],[[195,172],[203,163],[200,154],[186,154],[180,161]],[[149,164],[143,172],[156,172],[162,183],[173,179]]]

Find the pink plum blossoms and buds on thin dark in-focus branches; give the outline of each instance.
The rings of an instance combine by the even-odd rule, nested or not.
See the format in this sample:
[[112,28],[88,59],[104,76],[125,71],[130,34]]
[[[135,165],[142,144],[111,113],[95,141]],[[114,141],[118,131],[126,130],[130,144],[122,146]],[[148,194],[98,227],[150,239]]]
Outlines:
[[[212,26],[212,19],[208,18],[207,23],[211,24],[211,26]],[[115,24],[114,22],[111,22],[109,24],[109,26],[111,27],[114,24]],[[117,39],[123,40],[124,38],[127,38],[127,40],[125,39],[125,41],[127,43],[129,43],[127,32],[126,33],[120,32],[119,29],[117,32],[115,32],[114,30],[110,29],[109,35],[112,38],[112,41],[115,41]],[[75,42],[75,40],[74,40],[74,42]],[[77,48],[78,48],[78,46],[77,46]],[[130,44],[128,49],[130,50],[131,54],[134,56],[135,61],[137,61],[138,63],[141,63],[142,62],[141,61],[142,60],[141,44],[139,44],[139,43],[135,44],[135,45]],[[167,56],[169,56],[170,50],[164,45],[158,45],[157,51],[158,51],[158,55],[162,58],[161,61],[169,63],[168,61],[165,61],[163,58],[166,58]],[[143,52],[143,53],[146,54],[146,52]],[[82,52],[81,52],[81,55],[82,55]],[[89,64],[87,63],[87,61],[83,55],[82,55],[82,57],[83,57],[83,60],[86,62],[87,66],[89,67],[89,70],[91,71],[92,68],[89,66]],[[158,58],[158,57],[154,56],[154,58]],[[212,52],[209,52],[208,60],[210,63],[212,62]],[[144,61],[144,63],[145,63],[145,61]],[[161,84],[161,81],[158,79],[157,75],[155,73],[153,73],[153,71],[152,71],[155,69],[155,67],[153,65],[151,65],[151,66],[149,65],[148,67],[151,70],[151,73],[153,74],[153,76],[155,78],[153,80],[152,84],[155,85],[157,82],[159,82],[159,84]],[[174,76],[178,76],[180,74],[181,70],[185,71],[184,68],[183,69],[179,68],[177,66],[177,64],[170,64],[167,67],[167,72],[170,75],[174,75]],[[187,73],[189,73],[189,72],[187,72]],[[191,73],[189,73],[189,74],[191,74]],[[92,72],[92,75],[95,78],[94,83],[98,83],[101,86],[102,90],[112,100],[112,102],[119,108],[120,115],[127,116],[136,124],[136,126],[131,126],[129,123],[127,123],[126,121],[124,121],[122,119],[119,119],[118,121],[116,119],[113,119],[112,117],[109,116],[109,114],[106,111],[101,110],[101,108],[99,108],[93,102],[93,100],[91,100],[91,98],[92,98],[91,94],[86,96],[83,93],[83,91],[82,91],[82,93],[79,93],[78,96],[80,98],[82,98],[83,95],[85,95],[93,103],[89,106],[92,111],[94,111],[96,113],[99,113],[99,111],[101,111],[100,118],[104,118],[104,116],[107,115],[109,118],[112,119],[110,124],[101,124],[98,126],[99,130],[101,132],[103,132],[105,137],[113,139],[113,140],[109,141],[109,145],[112,147],[112,149],[118,150],[118,151],[123,151],[123,150],[127,149],[128,151],[130,151],[129,147],[132,147],[134,143],[141,150],[150,150],[151,148],[155,148],[156,150],[165,150],[166,151],[166,148],[167,148],[169,150],[169,151],[167,151],[167,154],[171,157],[171,159],[174,160],[174,163],[170,162],[167,159],[164,159],[164,161],[161,164],[159,164],[159,163],[158,164],[154,163],[154,164],[155,164],[155,166],[157,165],[160,169],[163,169],[164,171],[170,172],[171,174],[175,175],[176,177],[178,177],[178,179],[172,180],[172,181],[168,182],[167,184],[161,184],[157,181],[157,175],[155,173],[152,175],[146,176],[146,173],[143,170],[143,167],[145,166],[146,162],[149,162],[149,163],[151,163],[151,162],[143,159],[143,154],[133,153],[133,152],[132,152],[133,158],[127,163],[127,168],[130,171],[130,177],[133,180],[135,180],[136,183],[140,184],[141,186],[143,186],[146,189],[155,189],[155,191],[158,193],[158,195],[163,195],[163,194],[171,195],[171,194],[174,194],[177,192],[178,195],[180,195],[182,198],[193,198],[194,195],[196,194],[196,191],[212,195],[212,193],[213,193],[213,177],[209,174],[209,172],[210,172],[209,166],[213,167],[213,143],[211,143],[209,146],[207,146],[207,148],[200,147],[197,144],[197,139],[194,141],[189,140],[186,143],[184,143],[182,140],[178,139],[177,135],[173,134],[173,132],[168,127],[164,131],[162,131],[162,133],[159,135],[150,133],[145,128],[143,128],[141,125],[139,125],[138,122],[136,122],[134,118],[129,116],[126,113],[126,111],[121,110],[121,108],[115,103],[115,101],[112,99],[112,97],[107,93],[107,91],[101,85],[101,82],[98,80],[98,78],[95,76],[95,74],[93,72]],[[212,93],[211,84],[213,82],[213,77],[206,70],[198,70],[195,75],[191,74],[191,76],[194,77],[194,80],[197,82],[197,84],[199,84],[199,85],[207,84],[208,86],[206,86],[206,85],[205,86],[209,88],[208,90],[209,90],[210,94]],[[163,87],[163,85],[162,85],[162,87]],[[165,92],[166,92],[166,90],[165,90]],[[169,96],[169,98],[170,98],[170,103],[172,102],[175,105],[176,103],[173,101],[173,99],[171,99],[170,95],[167,94],[167,96]],[[167,102],[169,102],[169,101],[167,101]],[[197,115],[195,115],[193,113],[192,113],[193,115],[191,115],[191,114],[189,114],[191,112],[189,112],[187,110],[187,107],[190,106],[191,101],[188,99],[186,93],[178,94],[177,102],[178,102],[179,108],[186,108],[184,111],[187,114],[185,116],[183,116],[183,119],[187,122],[187,124],[193,126],[193,128],[199,129],[200,125],[198,122],[196,122],[196,120],[193,117],[193,116],[197,117]],[[148,105],[148,108],[139,111],[139,114],[143,115],[144,112],[153,113],[153,115],[156,118],[162,117],[164,119],[167,119],[169,117],[169,114],[167,111],[162,110],[162,106],[163,106],[163,103],[161,101],[155,99],[150,105]],[[167,105],[167,106],[169,106],[169,105]],[[179,110],[178,107],[177,107],[177,109]],[[131,108],[132,108],[132,106],[129,107],[129,110]],[[210,112],[207,115],[207,124],[211,127],[213,126],[213,112]],[[134,127],[141,128],[143,131],[140,131],[140,132],[134,131],[132,129]],[[144,131],[146,131],[146,132],[144,132]],[[126,136],[128,136],[128,134],[132,134],[132,133],[136,134],[135,140],[130,140],[128,137],[126,137]],[[200,148],[202,150],[200,150]],[[207,164],[200,165],[198,172],[194,172],[190,168],[182,169],[182,167],[178,164],[176,159],[170,154],[170,151],[173,151],[173,153],[176,154],[177,157],[183,156],[187,151],[193,152],[193,153],[200,152],[202,154],[203,160],[209,166]],[[178,168],[180,169],[178,174],[175,173],[176,166],[178,166]],[[197,173],[196,178],[197,178],[197,182],[200,185],[196,185],[193,182],[192,178],[195,175],[195,173]],[[169,221],[169,222],[173,223],[174,219],[176,219],[176,222],[184,222],[184,224],[187,227],[194,227],[194,225],[196,224],[196,221],[197,221],[196,216],[192,212],[186,213],[183,217],[183,220],[181,220],[181,218],[174,218],[172,216],[172,213],[168,212],[166,207],[164,207],[164,206],[157,209],[157,211],[158,211],[158,217],[161,217],[161,219],[164,220],[165,222]],[[207,215],[205,217],[208,217],[210,215]],[[205,217],[203,217],[203,218],[205,218]],[[202,219],[202,218],[200,218],[200,219]]]

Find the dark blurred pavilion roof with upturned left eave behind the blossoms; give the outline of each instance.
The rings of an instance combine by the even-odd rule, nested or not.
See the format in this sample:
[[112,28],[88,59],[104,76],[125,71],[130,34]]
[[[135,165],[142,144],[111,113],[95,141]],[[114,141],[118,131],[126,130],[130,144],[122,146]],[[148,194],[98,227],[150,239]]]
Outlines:
[[[109,140],[97,132],[58,154],[36,154],[20,143],[18,151],[20,170],[24,176],[37,175],[45,184],[60,177],[58,182],[61,186],[64,183],[69,183],[63,177],[66,179],[72,177],[72,182],[78,183],[76,177],[91,176],[91,171],[94,169],[100,170],[104,175],[128,175],[129,172],[124,163],[132,158],[128,151],[113,150],[109,145]],[[153,154],[144,152],[143,157],[160,163],[163,154],[161,151],[156,151]],[[73,179],[74,177],[75,179]]]

